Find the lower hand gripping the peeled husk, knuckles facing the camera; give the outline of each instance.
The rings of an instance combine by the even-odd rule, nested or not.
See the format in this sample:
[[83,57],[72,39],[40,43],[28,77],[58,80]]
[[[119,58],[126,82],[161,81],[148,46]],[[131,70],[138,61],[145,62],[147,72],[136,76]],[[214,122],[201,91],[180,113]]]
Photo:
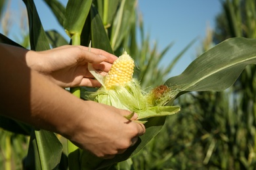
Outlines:
[[131,114],[128,110],[85,101],[84,112],[71,132],[72,137],[68,138],[79,148],[89,150],[100,158],[109,159],[122,154],[135,144],[138,136],[145,133],[143,124],[131,121],[137,119],[137,114],[131,120],[123,117]]

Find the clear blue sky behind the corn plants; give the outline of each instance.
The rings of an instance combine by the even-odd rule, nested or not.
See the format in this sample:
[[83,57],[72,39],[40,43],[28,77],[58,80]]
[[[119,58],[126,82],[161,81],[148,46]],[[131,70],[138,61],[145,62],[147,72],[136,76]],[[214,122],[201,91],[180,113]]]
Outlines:
[[[67,0],[61,1],[64,4],[67,2]],[[13,14],[17,14],[18,9],[24,7],[20,0],[12,0],[11,2]],[[35,0],[35,5],[43,27],[46,30],[57,29],[68,39],[45,3],[41,0]],[[175,42],[161,62],[163,66],[179,54],[192,39],[198,39],[188,52],[182,56],[170,76],[182,73],[189,63],[196,58],[197,49],[200,47],[203,37],[205,37],[207,24],[214,28],[215,16],[222,10],[221,3],[217,0],[139,0],[138,6],[144,20],[144,30],[150,34],[152,44],[158,42],[159,51],[163,50],[170,42]],[[17,27],[18,25],[14,22],[12,32]],[[14,35],[15,33],[12,33],[12,36]]]

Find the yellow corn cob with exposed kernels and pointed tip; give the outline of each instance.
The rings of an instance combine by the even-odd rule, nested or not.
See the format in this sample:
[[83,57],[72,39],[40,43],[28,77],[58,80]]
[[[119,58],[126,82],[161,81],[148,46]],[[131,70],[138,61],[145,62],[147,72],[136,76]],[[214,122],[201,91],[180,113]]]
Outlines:
[[127,82],[133,79],[135,63],[127,52],[119,56],[114,61],[108,75],[104,76],[103,82],[106,89],[111,89],[113,86],[124,86]]

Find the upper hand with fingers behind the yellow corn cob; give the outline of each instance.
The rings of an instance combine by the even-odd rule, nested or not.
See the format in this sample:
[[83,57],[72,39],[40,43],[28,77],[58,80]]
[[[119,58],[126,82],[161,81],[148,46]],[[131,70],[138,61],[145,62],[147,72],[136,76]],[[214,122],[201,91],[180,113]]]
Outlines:
[[88,63],[93,64],[95,70],[106,75],[116,56],[91,48],[89,52],[85,46],[60,46],[43,52],[29,51],[26,62],[29,67],[48,76],[55,84],[66,87],[88,86],[100,87],[88,70]]

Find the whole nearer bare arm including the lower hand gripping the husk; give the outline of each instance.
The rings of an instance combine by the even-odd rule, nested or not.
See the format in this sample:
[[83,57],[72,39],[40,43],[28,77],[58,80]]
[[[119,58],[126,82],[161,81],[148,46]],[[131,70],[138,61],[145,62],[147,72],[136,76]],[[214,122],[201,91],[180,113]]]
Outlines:
[[[16,59],[9,47],[0,44],[0,52],[0,114],[60,133],[100,157],[123,152],[144,133],[142,124],[123,118],[129,111],[82,101]],[[26,58],[28,51],[21,54]]]

